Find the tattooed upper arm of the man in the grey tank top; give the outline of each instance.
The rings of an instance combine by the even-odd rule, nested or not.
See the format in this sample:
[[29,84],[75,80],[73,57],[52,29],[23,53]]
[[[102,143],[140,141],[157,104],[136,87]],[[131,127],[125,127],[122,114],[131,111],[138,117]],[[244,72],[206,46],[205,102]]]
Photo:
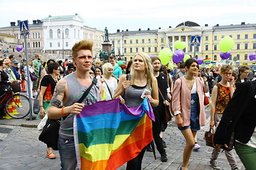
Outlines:
[[63,101],[66,81],[59,81],[55,86],[53,97],[50,101],[50,106],[58,108]]

